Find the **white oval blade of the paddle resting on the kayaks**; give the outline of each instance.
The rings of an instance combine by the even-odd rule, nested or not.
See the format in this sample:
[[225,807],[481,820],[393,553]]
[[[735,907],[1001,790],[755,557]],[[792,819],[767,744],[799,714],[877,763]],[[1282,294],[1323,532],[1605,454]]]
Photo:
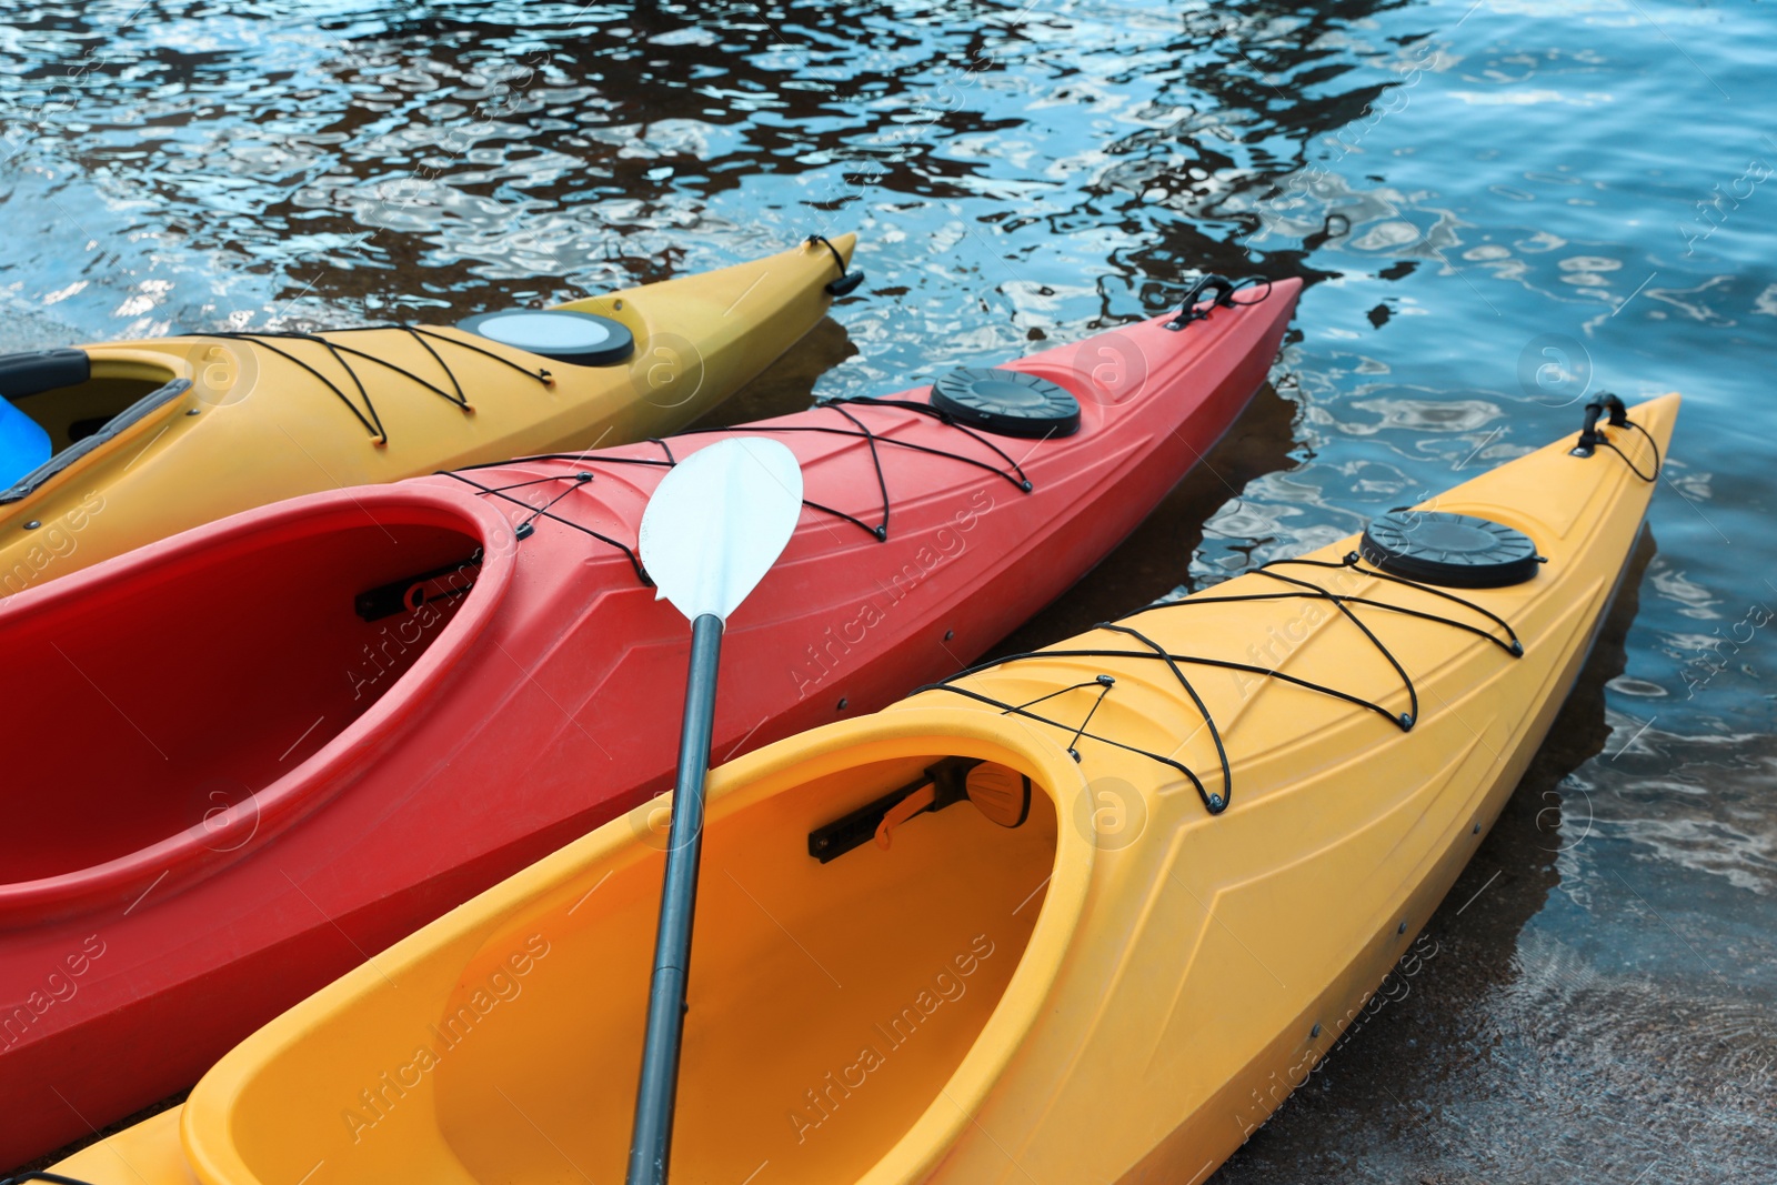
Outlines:
[[801,465],[780,441],[729,437],[673,465],[641,512],[641,565],[693,622],[727,620],[784,554]]

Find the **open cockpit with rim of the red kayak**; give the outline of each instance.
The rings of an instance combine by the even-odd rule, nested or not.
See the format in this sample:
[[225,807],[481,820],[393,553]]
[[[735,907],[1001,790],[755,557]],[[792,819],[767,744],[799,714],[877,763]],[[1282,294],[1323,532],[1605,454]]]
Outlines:
[[512,542],[469,499],[341,490],[0,602],[0,922],[188,879],[320,807],[487,624]]

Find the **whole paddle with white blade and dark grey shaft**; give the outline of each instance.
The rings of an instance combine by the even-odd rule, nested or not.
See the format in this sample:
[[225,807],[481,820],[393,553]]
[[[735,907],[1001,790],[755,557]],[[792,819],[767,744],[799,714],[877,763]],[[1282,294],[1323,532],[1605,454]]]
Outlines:
[[629,1185],[666,1181],[723,622],[784,553],[800,515],[801,467],[784,444],[764,437],[730,437],[693,453],[666,474],[641,512],[641,563],[659,588],[657,599],[672,600],[691,620],[691,673],[654,936],[641,1086],[629,1139]]

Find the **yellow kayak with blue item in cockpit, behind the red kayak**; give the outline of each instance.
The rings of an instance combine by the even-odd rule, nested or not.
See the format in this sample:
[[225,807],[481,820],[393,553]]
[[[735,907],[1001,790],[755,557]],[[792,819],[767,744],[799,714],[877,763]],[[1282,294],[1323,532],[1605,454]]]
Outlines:
[[0,357],[0,460],[41,460],[0,473],[0,597],[297,494],[675,432],[857,284],[853,243],[457,327]]

